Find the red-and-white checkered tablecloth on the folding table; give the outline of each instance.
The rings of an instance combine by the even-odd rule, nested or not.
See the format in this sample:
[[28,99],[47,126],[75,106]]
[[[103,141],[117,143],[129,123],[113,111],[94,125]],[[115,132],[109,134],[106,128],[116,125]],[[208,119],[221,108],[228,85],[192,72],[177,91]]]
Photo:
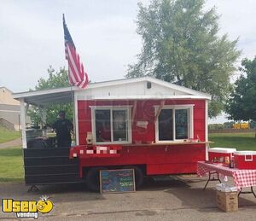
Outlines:
[[256,186],[256,170],[239,170],[226,166],[197,162],[197,175],[203,176],[207,172],[218,172],[224,176],[233,177],[237,189]]

